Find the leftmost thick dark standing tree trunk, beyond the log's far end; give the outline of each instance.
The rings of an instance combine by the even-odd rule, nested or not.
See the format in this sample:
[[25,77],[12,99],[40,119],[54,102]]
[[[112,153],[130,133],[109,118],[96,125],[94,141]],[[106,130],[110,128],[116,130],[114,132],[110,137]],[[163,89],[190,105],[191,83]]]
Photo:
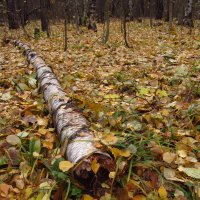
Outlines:
[[9,29],[18,29],[19,22],[16,11],[16,1],[6,0]]

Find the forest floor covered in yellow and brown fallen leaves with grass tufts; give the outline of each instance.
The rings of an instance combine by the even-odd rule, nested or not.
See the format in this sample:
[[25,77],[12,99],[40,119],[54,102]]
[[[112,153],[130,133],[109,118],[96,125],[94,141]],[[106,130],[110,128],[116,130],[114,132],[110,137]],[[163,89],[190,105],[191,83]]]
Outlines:
[[[91,123],[96,146],[125,171],[102,183],[102,200],[200,198],[199,30],[169,34],[167,24],[132,22],[126,48],[119,22],[106,45],[101,26],[78,34],[70,25],[64,53],[62,24],[51,26],[50,39],[0,29],[1,39],[20,39],[45,59]],[[35,70],[4,42],[0,78],[0,199],[93,199],[58,167],[60,146]]]

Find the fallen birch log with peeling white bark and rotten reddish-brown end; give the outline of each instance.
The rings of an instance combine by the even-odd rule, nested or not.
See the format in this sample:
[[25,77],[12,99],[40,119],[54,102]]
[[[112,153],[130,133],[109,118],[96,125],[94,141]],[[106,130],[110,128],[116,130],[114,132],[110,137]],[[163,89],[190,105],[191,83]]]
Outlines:
[[[74,164],[79,163],[73,172],[75,179],[90,188],[93,187],[91,184],[94,184],[94,179],[96,182],[105,181],[109,172],[114,169],[114,162],[109,154],[93,145],[94,136],[89,130],[87,120],[62,90],[52,69],[45,64],[44,60],[28,45],[20,41],[14,41],[14,45],[24,50],[29,63],[37,70],[40,89],[63,145],[64,157]],[[100,164],[96,174],[91,168],[94,159]]]

